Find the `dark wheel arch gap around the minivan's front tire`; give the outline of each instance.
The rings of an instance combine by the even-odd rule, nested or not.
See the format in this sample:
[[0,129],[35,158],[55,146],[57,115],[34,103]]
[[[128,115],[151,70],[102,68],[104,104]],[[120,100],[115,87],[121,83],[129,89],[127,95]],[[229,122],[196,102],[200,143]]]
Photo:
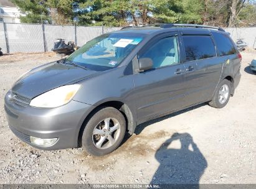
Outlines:
[[78,133],[78,146],[82,146],[83,130],[85,129],[87,122],[90,120],[90,118],[92,118],[93,114],[95,114],[97,111],[99,111],[103,107],[113,107],[118,109],[125,117],[126,131],[128,131],[129,134],[133,134],[133,132],[135,131],[135,127],[136,127],[135,116],[133,116],[133,114],[131,113],[131,109],[128,107],[127,104],[118,100],[100,102],[95,105],[95,108],[93,108],[92,111],[90,111],[90,113],[83,120],[83,123]]

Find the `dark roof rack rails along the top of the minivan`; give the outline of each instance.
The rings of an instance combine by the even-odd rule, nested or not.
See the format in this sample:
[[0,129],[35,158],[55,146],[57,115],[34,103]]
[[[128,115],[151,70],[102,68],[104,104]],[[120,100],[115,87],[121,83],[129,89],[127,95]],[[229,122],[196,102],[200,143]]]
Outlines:
[[126,26],[121,28],[122,29],[128,29],[128,28],[140,28],[140,27],[161,27],[161,28],[169,28],[169,27],[196,27],[196,28],[209,28],[209,29],[217,29],[220,30],[222,32],[225,32],[224,29],[222,29],[221,27],[214,27],[211,25],[199,25],[199,24],[149,24],[149,25],[142,25],[142,26]]

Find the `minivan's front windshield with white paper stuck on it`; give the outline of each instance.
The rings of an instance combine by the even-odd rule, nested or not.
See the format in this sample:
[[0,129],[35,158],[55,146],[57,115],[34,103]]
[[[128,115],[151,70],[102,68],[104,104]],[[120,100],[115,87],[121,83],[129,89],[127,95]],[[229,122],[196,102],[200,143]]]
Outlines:
[[67,62],[90,70],[108,70],[117,67],[142,40],[141,34],[104,34],[73,52]]

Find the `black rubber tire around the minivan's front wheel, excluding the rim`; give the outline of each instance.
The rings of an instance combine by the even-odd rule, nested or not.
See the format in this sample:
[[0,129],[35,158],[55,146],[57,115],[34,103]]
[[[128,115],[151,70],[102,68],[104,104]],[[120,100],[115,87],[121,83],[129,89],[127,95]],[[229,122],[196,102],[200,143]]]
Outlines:
[[[106,149],[99,149],[93,143],[93,140],[94,140],[93,131],[95,127],[99,125],[99,123],[102,123],[107,118],[113,118],[119,122],[120,124],[120,130],[118,132],[119,134],[118,134],[118,137],[116,137],[116,141],[113,145],[111,145],[110,147],[107,147]],[[95,155],[95,156],[110,154],[115,149],[117,149],[121,144],[121,141],[123,141],[123,137],[125,136],[125,131],[126,131],[126,121],[123,114],[121,114],[121,112],[118,111],[118,109],[115,109],[112,107],[103,107],[102,109],[99,109],[92,116],[92,118],[90,118],[89,121],[87,122],[82,135],[82,148],[88,154]],[[113,132],[113,134],[115,133]],[[98,137],[101,138],[102,136],[98,135]],[[110,141],[108,141],[107,139],[106,142],[110,142]]]

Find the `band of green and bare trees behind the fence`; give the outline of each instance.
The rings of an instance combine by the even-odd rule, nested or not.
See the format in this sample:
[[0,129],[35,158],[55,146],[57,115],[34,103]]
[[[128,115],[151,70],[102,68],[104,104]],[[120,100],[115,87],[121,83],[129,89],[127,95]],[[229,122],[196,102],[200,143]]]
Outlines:
[[255,24],[256,0],[11,0],[22,22],[78,25]]

